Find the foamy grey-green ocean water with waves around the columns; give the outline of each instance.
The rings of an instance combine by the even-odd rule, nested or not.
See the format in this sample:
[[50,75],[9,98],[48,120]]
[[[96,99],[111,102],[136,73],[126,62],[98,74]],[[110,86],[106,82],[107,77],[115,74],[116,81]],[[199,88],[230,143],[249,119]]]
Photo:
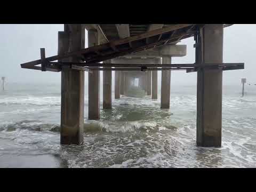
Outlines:
[[[61,146],[60,85],[0,91],[0,167],[256,167],[256,86],[223,86],[222,147],[196,147],[196,86],[172,86],[170,110],[150,96],[113,99],[84,144]],[[102,94],[102,93],[101,93]],[[113,93],[114,98],[114,93]]]

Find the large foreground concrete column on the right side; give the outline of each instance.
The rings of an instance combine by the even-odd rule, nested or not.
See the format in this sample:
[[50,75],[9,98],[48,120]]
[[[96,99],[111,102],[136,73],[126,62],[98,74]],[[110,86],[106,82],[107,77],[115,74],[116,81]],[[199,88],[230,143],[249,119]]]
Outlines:
[[[222,24],[207,24],[201,29],[199,59],[207,63],[222,63]],[[201,69],[197,72],[197,146],[221,147],[222,70]]]

